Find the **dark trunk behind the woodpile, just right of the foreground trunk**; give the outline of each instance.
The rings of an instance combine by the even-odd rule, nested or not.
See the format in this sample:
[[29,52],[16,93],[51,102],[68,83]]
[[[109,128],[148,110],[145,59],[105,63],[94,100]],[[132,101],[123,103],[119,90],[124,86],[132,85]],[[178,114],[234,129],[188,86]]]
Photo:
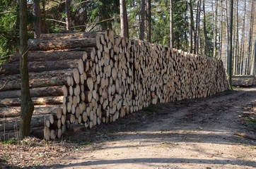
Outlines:
[[41,34],[41,12],[40,0],[33,0],[33,16],[34,16],[34,37],[39,38]]

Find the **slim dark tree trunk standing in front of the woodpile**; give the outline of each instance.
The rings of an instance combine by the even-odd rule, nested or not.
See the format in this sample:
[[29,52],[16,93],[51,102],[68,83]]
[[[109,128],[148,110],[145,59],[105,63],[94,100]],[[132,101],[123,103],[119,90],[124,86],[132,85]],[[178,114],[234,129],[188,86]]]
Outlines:
[[20,72],[21,72],[21,124],[20,137],[30,135],[30,122],[34,111],[33,101],[30,97],[28,78],[28,13],[27,1],[19,0],[20,17]]

